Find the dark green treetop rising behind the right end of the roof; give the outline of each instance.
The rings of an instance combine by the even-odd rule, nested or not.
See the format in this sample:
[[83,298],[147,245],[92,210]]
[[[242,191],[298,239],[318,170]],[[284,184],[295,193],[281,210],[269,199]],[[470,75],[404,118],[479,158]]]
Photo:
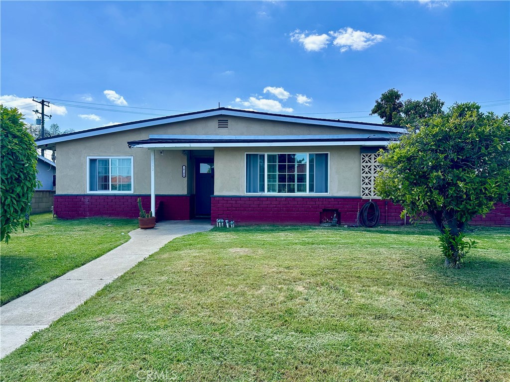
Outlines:
[[444,101],[438,98],[436,93],[420,100],[406,99],[401,102],[402,93],[396,89],[390,89],[381,94],[375,101],[370,115],[377,114],[384,123],[404,126],[409,131],[416,131],[420,121],[433,115],[444,115]]

